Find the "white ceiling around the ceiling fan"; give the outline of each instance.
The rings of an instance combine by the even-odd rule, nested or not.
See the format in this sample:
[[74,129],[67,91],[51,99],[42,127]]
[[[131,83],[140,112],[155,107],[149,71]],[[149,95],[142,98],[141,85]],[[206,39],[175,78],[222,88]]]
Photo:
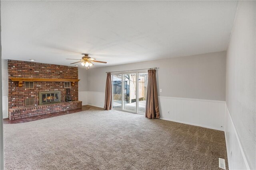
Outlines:
[[[225,51],[237,1],[1,1],[2,58],[95,66]],[[74,61],[75,62],[75,61]],[[75,64],[73,64],[74,66]]]

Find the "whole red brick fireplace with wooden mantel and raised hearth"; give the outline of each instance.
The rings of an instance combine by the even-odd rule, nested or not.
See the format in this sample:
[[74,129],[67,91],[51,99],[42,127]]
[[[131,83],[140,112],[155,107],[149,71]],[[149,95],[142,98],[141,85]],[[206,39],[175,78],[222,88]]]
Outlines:
[[[8,76],[10,120],[82,107],[77,67],[8,60]],[[65,101],[67,89],[70,102]]]

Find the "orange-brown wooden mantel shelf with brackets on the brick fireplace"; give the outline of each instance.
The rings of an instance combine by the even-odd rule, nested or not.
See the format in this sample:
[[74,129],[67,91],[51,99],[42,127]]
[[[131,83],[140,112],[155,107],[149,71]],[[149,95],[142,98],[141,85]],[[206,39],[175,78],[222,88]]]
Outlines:
[[62,79],[62,78],[16,78],[10,77],[13,82],[19,82],[19,87],[22,87],[22,82],[79,82],[79,79]]

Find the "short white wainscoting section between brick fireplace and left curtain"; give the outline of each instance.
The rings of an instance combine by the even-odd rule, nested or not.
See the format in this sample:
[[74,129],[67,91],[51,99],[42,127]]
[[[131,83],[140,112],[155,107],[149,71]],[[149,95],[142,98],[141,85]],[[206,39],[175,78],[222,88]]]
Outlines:
[[88,105],[96,107],[104,107],[105,93],[104,92],[87,92]]

